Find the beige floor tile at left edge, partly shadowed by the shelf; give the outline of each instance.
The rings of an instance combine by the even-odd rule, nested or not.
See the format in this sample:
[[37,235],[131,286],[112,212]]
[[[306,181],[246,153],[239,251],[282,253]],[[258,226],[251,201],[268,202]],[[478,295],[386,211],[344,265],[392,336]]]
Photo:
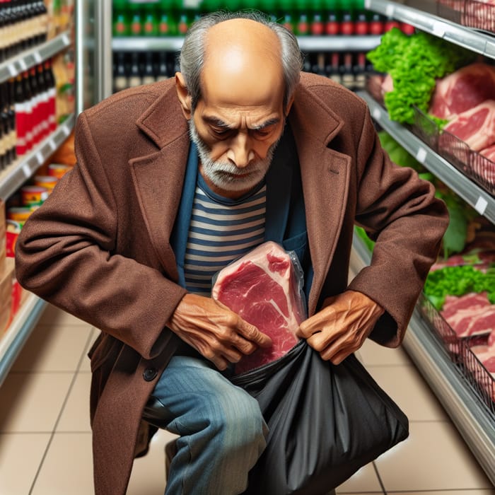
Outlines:
[[51,432],[74,373],[10,373],[0,388],[1,432]]

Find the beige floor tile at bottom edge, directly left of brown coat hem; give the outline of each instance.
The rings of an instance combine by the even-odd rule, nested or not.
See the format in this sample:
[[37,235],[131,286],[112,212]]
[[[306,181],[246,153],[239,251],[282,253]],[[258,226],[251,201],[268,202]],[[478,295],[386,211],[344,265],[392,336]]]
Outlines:
[[30,495],[93,495],[91,433],[55,433]]

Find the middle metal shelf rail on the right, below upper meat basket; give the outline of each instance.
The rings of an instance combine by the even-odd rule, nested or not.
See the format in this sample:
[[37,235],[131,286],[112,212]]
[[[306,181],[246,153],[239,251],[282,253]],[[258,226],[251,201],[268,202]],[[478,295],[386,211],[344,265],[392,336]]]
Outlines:
[[495,223],[495,198],[481,187],[474,184],[445,158],[426,146],[421,139],[402,127],[398,122],[390,120],[388,112],[377,103],[366,91],[358,95],[366,100],[373,119],[380,124],[398,143],[401,144],[417,161],[422,163],[438,179],[448,185],[476,211]]

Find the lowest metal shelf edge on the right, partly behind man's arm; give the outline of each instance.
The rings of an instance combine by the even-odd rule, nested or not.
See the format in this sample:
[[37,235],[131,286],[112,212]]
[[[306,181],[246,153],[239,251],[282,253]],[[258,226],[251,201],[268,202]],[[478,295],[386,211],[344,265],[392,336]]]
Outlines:
[[[370,252],[356,235],[351,253],[351,270],[358,273],[371,260]],[[495,485],[495,417],[477,397],[428,323],[414,310],[403,347],[416,363],[438,400],[443,404],[479,465]]]

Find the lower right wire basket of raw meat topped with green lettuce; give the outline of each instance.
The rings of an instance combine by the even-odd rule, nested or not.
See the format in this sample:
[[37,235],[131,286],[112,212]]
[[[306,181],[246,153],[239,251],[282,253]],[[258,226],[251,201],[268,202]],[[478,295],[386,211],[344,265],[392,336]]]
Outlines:
[[495,249],[481,236],[431,267],[421,313],[450,359],[495,414]]

